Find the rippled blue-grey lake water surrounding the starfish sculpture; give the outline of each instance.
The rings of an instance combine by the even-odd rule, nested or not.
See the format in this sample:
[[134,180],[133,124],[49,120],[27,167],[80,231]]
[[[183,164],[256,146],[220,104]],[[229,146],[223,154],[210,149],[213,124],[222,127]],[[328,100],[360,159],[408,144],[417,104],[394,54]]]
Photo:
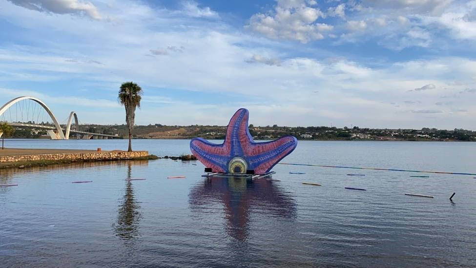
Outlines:
[[[178,156],[188,143],[133,148]],[[127,140],[5,145],[109,150]],[[475,173],[475,152],[476,143],[299,141],[283,162]],[[0,184],[19,185],[0,187],[0,267],[476,266],[476,176],[276,165],[280,182],[207,180],[203,167],[160,159],[0,170]],[[186,179],[166,179],[176,175]]]

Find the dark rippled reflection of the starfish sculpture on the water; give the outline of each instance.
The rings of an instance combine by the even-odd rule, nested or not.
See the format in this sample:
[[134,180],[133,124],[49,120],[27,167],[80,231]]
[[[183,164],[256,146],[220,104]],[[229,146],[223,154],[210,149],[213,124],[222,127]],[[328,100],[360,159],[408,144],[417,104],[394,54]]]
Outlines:
[[273,182],[266,179],[212,178],[192,188],[192,211],[206,213],[214,202],[225,208],[228,234],[240,241],[248,237],[250,214],[295,218],[296,204]]

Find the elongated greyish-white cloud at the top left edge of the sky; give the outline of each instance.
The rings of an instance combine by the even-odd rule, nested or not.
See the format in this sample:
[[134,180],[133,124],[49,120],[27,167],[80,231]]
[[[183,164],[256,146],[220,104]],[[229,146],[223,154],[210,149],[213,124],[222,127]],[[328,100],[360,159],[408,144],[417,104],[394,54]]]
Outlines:
[[82,14],[94,20],[101,20],[101,15],[94,4],[79,0],[8,0],[16,5],[41,12],[56,14]]

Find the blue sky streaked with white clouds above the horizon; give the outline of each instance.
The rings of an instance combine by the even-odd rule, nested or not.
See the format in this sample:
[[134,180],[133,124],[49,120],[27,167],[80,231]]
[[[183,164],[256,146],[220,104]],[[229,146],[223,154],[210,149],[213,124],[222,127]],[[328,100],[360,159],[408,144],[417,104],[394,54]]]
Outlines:
[[136,124],[476,130],[476,0],[0,0],[0,105]]

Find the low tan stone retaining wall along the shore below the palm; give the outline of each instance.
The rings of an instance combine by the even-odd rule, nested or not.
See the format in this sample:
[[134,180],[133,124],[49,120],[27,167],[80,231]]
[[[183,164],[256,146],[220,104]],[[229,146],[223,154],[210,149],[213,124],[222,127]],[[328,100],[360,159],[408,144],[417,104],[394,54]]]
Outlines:
[[146,157],[148,151],[137,152],[91,152],[91,153],[64,153],[64,154],[36,154],[1,156],[0,163],[29,162],[29,161],[58,161],[58,160],[126,160]]

